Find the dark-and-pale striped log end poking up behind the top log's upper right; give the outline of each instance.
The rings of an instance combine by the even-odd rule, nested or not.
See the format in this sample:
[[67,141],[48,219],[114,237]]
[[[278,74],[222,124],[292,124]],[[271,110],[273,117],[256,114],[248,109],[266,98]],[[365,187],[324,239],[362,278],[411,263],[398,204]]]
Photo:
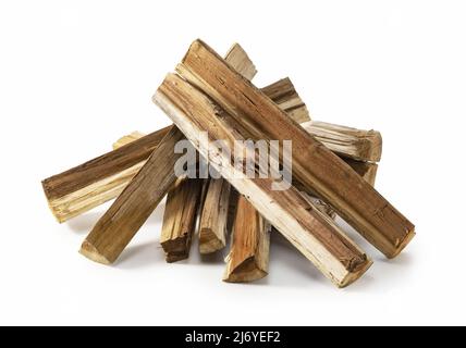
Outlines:
[[310,121],[309,111],[289,77],[263,87],[261,90],[297,123]]

